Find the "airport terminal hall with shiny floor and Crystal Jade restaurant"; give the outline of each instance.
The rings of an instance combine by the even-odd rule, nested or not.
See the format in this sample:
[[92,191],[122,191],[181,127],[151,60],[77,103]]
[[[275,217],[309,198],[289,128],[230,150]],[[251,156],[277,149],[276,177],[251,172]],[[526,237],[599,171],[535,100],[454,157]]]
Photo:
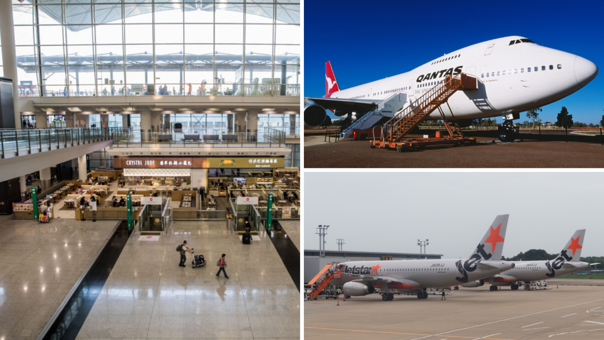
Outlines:
[[0,1],[1,340],[300,338],[300,35],[289,0]]

